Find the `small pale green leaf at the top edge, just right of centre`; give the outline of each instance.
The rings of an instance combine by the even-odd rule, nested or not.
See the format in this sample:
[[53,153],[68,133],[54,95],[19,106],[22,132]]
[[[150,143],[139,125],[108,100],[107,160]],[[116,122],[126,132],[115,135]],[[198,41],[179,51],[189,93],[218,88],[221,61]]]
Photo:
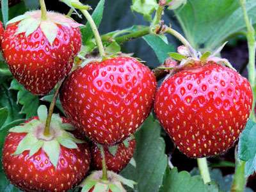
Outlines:
[[152,13],[157,10],[158,4],[156,0],[132,0],[131,10],[134,12],[138,12],[146,20],[152,20]]

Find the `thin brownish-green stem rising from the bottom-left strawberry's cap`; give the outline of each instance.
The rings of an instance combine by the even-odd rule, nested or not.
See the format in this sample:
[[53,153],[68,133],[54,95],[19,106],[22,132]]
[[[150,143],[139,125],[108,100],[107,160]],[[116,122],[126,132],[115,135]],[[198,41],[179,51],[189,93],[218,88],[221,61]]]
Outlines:
[[56,91],[53,95],[52,102],[50,104],[50,108],[49,108],[49,112],[48,112],[48,116],[47,116],[47,119],[46,119],[46,122],[45,122],[44,136],[49,136],[51,134],[52,113],[53,113],[53,109],[54,109],[54,106],[56,104],[56,100],[58,98],[59,92],[60,92],[61,84],[63,83],[64,79],[62,79],[60,81],[60,83],[58,84],[58,86],[56,88]]

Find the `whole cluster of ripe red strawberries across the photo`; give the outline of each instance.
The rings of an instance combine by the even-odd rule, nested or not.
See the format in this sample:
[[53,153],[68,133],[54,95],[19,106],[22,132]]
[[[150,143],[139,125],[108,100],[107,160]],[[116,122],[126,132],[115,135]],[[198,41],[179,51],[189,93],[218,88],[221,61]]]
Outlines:
[[[214,156],[234,145],[252,109],[252,89],[234,70],[197,62],[168,76],[156,91],[156,77],[131,57],[92,61],[74,71],[81,49],[80,24],[59,13],[27,12],[1,26],[3,56],[13,76],[31,93],[45,95],[67,76],[60,90],[66,118],[47,109],[13,127],[3,148],[3,167],[24,191],[67,191],[93,168],[120,172],[133,156],[134,138],[153,103],[157,118],[181,152]],[[154,98],[156,95],[156,101]],[[76,129],[76,130],[75,130]],[[77,139],[79,138],[79,139]],[[85,138],[90,138],[89,147]],[[117,151],[109,147],[118,145]],[[110,190],[111,191],[111,190]]]

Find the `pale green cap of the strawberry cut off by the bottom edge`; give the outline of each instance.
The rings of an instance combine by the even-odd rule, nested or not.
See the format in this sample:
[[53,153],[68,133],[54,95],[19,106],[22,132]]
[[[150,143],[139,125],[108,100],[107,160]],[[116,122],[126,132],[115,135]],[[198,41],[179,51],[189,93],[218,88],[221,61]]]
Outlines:
[[102,171],[93,172],[89,175],[82,183],[82,192],[88,192],[93,188],[93,192],[108,192],[109,190],[113,192],[125,192],[126,190],[122,184],[129,186],[129,188],[134,189],[136,182],[133,180],[128,180],[118,175],[114,172],[108,171],[108,180],[101,180]]

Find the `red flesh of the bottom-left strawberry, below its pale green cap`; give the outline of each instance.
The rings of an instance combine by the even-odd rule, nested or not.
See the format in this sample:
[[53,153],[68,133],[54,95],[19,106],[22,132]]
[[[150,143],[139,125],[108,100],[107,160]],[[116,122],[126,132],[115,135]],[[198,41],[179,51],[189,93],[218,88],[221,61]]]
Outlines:
[[26,133],[10,132],[4,143],[3,168],[12,184],[23,191],[67,191],[84,179],[91,159],[86,143],[73,149],[61,146],[55,168],[42,148],[31,157],[27,150],[13,155],[25,136]]

